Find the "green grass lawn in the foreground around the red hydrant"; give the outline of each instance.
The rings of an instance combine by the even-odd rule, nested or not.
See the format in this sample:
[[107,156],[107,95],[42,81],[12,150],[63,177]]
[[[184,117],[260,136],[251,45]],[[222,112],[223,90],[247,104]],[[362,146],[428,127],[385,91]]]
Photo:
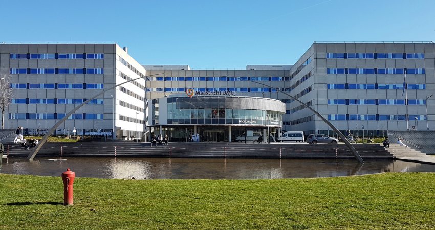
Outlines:
[[[76,172],[79,174],[79,172]],[[0,229],[434,229],[435,173],[274,180],[0,174]]]

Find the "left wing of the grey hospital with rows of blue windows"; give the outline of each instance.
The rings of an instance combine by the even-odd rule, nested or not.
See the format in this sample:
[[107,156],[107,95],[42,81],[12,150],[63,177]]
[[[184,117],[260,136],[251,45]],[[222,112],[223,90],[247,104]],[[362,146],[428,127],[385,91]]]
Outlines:
[[[113,42],[0,43],[1,78],[14,89],[4,128],[23,126],[27,134],[44,134],[85,100],[145,73],[126,48]],[[111,136],[115,130],[119,138],[136,136],[138,129],[141,134],[144,92],[144,78],[107,91],[76,111],[55,133]]]

